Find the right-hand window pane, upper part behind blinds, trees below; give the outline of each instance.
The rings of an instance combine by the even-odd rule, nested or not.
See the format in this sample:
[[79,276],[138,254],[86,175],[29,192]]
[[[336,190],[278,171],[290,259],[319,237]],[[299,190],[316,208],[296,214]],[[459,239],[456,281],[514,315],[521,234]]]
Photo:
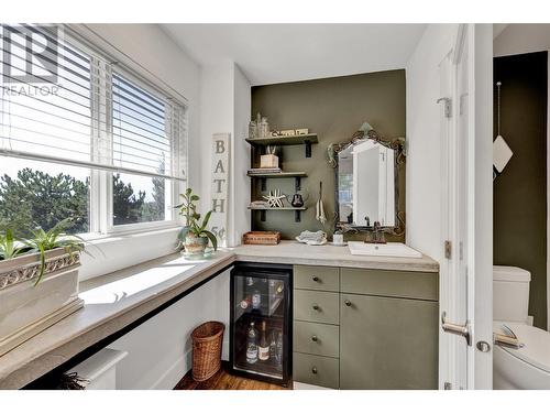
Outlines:
[[[172,169],[165,105],[121,75],[112,78],[113,161],[165,174]],[[160,177],[113,175],[113,225],[169,219],[172,196],[165,184]],[[136,194],[127,197],[129,188]]]

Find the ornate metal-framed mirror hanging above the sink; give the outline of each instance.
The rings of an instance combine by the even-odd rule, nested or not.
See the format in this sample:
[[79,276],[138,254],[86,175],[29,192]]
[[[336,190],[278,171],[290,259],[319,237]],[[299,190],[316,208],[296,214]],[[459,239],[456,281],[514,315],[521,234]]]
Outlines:
[[403,138],[386,140],[364,123],[350,142],[329,146],[336,171],[336,227],[367,230],[377,221],[386,232],[403,233],[399,174]]

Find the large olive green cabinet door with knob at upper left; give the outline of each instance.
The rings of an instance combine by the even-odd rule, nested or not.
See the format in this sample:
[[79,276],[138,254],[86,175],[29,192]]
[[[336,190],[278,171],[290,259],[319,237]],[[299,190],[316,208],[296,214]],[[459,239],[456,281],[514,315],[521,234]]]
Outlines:
[[341,389],[437,389],[438,303],[340,294]]

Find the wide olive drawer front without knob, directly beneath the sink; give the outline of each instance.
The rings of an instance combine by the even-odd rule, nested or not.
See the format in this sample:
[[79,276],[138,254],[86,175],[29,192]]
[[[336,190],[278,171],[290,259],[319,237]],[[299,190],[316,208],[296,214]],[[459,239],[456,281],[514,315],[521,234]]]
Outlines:
[[438,301],[437,272],[341,269],[343,293]]

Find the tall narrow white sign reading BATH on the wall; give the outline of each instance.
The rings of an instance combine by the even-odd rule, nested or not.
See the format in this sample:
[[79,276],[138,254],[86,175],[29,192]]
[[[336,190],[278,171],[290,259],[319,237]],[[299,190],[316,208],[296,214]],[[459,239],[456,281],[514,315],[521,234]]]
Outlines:
[[220,246],[228,242],[229,133],[216,133],[212,140],[211,231]]

